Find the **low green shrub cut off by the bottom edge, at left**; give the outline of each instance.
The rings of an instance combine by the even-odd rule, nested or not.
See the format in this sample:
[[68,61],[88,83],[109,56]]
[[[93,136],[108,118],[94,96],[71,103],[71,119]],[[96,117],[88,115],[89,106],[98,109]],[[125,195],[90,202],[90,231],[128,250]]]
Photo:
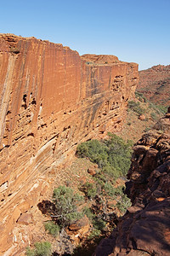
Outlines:
[[27,256],[49,256],[51,255],[51,244],[48,241],[36,242],[35,248],[26,248]]

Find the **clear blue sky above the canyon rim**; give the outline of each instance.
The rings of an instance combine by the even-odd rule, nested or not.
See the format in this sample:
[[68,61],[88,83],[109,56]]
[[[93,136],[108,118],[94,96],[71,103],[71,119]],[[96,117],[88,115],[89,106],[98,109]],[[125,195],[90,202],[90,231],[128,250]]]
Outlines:
[[170,0],[7,0],[0,32],[86,53],[117,55],[139,69],[170,64]]

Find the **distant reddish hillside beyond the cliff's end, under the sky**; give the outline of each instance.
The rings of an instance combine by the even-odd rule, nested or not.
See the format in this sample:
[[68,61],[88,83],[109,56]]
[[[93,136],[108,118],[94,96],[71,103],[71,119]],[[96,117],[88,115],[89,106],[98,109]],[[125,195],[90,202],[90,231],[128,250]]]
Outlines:
[[138,89],[151,102],[170,105],[170,65],[158,65],[139,71]]

